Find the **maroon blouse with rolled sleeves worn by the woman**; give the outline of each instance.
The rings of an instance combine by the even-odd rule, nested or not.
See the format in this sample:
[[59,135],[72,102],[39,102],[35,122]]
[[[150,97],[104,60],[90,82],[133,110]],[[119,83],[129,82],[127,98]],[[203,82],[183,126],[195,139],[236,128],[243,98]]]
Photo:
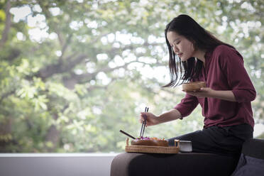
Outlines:
[[248,123],[254,127],[251,101],[255,99],[255,88],[243,66],[243,57],[237,50],[219,45],[205,55],[205,67],[194,81],[207,82],[214,90],[231,90],[236,102],[214,98],[198,98],[186,94],[175,109],[182,117],[188,116],[197,104],[202,106],[204,128],[209,126],[233,126]]

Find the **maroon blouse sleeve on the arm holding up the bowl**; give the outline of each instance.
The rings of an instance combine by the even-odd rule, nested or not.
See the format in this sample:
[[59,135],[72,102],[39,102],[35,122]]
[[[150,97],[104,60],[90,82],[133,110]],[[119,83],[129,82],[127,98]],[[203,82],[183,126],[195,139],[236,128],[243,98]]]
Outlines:
[[243,57],[233,48],[225,47],[219,54],[221,69],[238,103],[253,101],[255,88],[243,65]]

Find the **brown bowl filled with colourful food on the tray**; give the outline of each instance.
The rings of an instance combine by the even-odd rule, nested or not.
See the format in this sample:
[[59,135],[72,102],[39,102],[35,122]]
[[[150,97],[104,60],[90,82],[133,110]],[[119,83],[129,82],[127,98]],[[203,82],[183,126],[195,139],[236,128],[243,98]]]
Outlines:
[[131,145],[150,145],[150,146],[163,146],[163,147],[169,146],[169,144],[164,138],[160,139],[160,138],[150,138],[143,136],[133,139],[131,141]]

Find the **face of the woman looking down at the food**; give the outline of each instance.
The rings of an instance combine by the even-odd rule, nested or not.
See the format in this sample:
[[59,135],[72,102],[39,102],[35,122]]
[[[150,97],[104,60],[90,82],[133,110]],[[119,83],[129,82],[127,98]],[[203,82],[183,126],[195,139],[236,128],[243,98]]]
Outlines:
[[187,40],[183,35],[178,35],[176,32],[167,32],[167,40],[172,47],[172,50],[182,61],[186,61],[189,57],[194,57],[194,45]]

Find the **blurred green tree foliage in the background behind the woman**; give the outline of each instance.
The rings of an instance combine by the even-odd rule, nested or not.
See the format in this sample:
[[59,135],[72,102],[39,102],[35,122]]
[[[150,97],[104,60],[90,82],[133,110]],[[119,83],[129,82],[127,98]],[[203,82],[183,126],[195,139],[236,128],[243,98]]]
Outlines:
[[[243,55],[255,122],[264,123],[262,0],[0,0],[0,152],[122,152],[119,130],[138,136],[145,106],[158,115],[184,96],[161,88],[165,25],[180,13]],[[198,107],[145,135],[202,126]]]

